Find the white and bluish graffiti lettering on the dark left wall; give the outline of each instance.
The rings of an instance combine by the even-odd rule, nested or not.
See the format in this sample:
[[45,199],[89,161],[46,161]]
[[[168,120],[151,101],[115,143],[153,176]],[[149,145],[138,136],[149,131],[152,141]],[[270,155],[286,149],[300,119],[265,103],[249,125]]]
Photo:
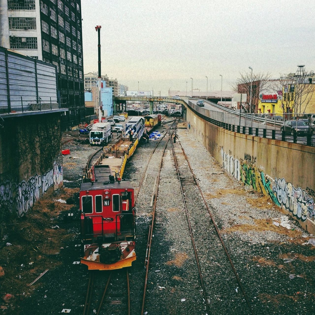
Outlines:
[[43,175],[34,175],[19,184],[13,180],[0,183],[0,199],[18,216],[25,215],[50,187],[63,180],[62,165],[54,162],[53,168]]

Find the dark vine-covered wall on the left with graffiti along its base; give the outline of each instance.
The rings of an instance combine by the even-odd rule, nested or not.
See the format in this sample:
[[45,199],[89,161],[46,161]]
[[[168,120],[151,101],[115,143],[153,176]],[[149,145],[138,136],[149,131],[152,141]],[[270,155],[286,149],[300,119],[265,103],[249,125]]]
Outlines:
[[0,129],[0,202],[23,216],[62,184],[60,114],[6,118]]

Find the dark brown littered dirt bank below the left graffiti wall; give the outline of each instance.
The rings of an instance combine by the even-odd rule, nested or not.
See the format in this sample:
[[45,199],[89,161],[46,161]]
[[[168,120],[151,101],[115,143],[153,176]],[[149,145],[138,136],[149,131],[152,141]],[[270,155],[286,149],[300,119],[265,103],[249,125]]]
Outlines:
[[[38,285],[35,283],[28,286],[40,273],[62,265],[60,247],[75,234],[62,228],[60,215],[73,205],[60,203],[56,199],[73,198],[77,191],[78,189],[58,189],[48,198],[39,200],[26,216],[14,217],[9,222],[5,232],[9,236],[7,241],[12,245],[1,250],[0,266],[5,272],[1,296],[10,293],[19,296],[20,300],[24,299]],[[56,227],[52,228],[53,226]],[[14,309],[12,307],[11,310]]]

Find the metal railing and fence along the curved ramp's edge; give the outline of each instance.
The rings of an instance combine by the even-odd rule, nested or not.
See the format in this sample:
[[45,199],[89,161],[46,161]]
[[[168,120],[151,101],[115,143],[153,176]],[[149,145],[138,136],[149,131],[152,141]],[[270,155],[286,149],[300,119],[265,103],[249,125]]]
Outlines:
[[[213,105],[212,102],[207,103],[211,103],[210,105]],[[299,143],[307,146],[315,146],[315,137],[312,132],[307,132],[304,135],[298,135],[296,133],[288,135],[284,130],[279,128],[279,123],[275,124],[270,119],[265,118],[265,120],[261,122],[259,121],[259,117],[255,117],[255,119],[249,119],[246,122],[246,117],[250,114],[237,113],[234,111],[212,111],[204,107],[199,107],[193,104],[190,100],[188,100],[188,104],[186,103],[186,106],[204,120],[230,131],[242,133],[244,135],[253,135],[262,138]],[[216,105],[216,107],[217,106],[218,105]],[[251,115],[253,118],[253,114]],[[282,124],[283,123],[280,123],[280,125]]]

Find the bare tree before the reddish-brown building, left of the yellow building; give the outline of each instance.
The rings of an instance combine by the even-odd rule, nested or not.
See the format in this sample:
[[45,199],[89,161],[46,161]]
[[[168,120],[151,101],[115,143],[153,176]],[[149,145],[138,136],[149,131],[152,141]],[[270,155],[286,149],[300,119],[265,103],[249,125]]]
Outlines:
[[[240,73],[240,77],[230,85],[236,93],[247,94],[247,104],[244,106],[246,112],[256,113],[258,111],[259,95],[269,90],[270,77],[271,74],[269,72],[253,73],[253,76],[251,72],[245,72]],[[251,102],[250,90],[252,91]],[[249,106],[250,103],[251,106]]]

